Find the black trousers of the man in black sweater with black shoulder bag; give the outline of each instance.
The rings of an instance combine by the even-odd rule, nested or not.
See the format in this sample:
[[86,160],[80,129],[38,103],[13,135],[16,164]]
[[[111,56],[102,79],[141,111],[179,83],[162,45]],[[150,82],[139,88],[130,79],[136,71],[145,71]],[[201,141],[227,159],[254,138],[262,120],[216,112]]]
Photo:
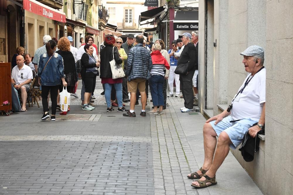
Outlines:
[[188,72],[187,75],[179,75],[180,88],[184,98],[184,107],[188,109],[193,109],[193,75],[194,71]]

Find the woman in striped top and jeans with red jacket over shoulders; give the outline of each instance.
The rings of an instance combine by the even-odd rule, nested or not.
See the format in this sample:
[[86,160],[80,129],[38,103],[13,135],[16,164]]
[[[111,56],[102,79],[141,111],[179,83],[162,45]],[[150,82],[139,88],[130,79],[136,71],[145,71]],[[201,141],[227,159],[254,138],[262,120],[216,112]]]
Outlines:
[[[154,109],[149,111],[149,114],[163,114],[164,96],[163,96],[163,84],[165,80],[165,68],[170,69],[168,61],[161,54],[161,45],[158,43],[153,44],[151,47],[151,61],[153,67],[151,68],[149,79],[149,87],[151,90],[151,98],[153,100]],[[157,111],[157,106],[159,111]]]

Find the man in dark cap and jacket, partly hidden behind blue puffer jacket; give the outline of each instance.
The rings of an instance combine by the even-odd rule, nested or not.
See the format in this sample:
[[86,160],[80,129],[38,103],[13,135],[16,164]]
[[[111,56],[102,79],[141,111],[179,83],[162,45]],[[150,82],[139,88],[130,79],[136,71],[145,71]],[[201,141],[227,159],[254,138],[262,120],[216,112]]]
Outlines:
[[[133,45],[134,42],[134,35],[133,34],[128,34],[127,36],[127,41],[121,45],[121,48],[124,49],[125,53],[128,56],[129,50],[134,47]],[[124,72],[126,72],[126,66],[127,66],[127,59],[124,60]],[[129,102],[128,98],[128,90],[127,90],[127,78],[126,76],[122,78],[122,100],[124,102]]]

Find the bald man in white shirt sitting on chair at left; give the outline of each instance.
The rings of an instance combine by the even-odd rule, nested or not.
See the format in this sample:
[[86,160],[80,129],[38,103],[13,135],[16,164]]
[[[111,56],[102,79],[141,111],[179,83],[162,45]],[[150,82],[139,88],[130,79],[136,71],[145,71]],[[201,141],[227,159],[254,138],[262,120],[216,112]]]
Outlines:
[[30,83],[33,80],[33,72],[31,68],[24,65],[24,58],[21,55],[16,56],[16,64],[11,72],[11,83],[13,87],[21,93],[22,107],[21,112],[27,111],[25,104],[30,90]]

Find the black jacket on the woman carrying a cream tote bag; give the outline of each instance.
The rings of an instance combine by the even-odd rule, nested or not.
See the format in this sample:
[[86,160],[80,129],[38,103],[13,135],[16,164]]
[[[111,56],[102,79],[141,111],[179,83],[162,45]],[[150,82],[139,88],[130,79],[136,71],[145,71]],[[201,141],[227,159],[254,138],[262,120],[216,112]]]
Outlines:
[[[100,52],[100,78],[112,78],[110,61],[113,60],[113,46],[106,43],[104,44],[105,47]],[[117,47],[114,47],[114,59],[116,63],[122,63]]]

